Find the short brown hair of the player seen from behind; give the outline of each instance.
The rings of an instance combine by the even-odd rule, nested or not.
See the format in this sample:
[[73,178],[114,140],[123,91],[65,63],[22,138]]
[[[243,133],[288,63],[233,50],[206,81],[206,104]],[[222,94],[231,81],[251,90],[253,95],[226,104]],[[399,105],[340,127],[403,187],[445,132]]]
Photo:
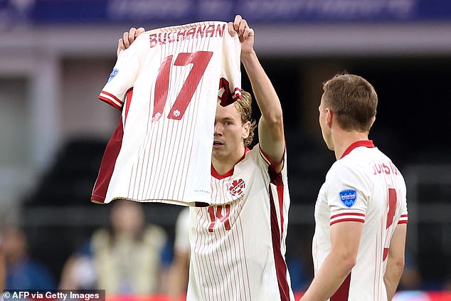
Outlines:
[[378,95],[367,80],[359,75],[335,75],[324,83],[323,90],[324,105],[335,113],[343,130],[370,130]]

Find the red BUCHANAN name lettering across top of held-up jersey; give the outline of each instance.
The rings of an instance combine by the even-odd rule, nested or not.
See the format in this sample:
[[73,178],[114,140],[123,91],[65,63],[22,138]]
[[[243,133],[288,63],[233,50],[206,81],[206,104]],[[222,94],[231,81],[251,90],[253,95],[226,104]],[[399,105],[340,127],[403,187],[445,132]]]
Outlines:
[[222,38],[226,24],[210,24],[206,26],[197,26],[186,30],[170,31],[166,33],[151,33],[149,35],[150,48],[166,43],[173,43],[193,38]]

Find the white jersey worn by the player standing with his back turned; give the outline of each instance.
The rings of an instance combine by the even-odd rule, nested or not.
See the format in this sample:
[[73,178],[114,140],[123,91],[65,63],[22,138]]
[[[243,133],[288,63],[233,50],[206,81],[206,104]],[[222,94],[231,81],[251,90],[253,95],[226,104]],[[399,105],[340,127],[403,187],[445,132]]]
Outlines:
[[371,140],[351,144],[327,173],[314,216],[315,274],[331,249],[330,226],[364,223],[356,265],[330,300],[387,300],[388,248],[398,223],[408,222],[405,182],[393,162]]

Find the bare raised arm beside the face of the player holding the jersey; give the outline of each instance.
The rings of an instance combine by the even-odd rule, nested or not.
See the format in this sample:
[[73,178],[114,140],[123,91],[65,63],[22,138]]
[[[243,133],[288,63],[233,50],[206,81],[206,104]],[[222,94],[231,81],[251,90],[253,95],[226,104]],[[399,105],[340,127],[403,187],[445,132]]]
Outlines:
[[240,15],[228,23],[230,34],[238,33],[241,42],[241,62],[252,85],[255,100],[262,113],[258,123],[258,139],[263,152],[267,154],[277,171],[282,169],[285,152],[282,107],[270,79],[263,70],[254,51],[254,31]]

